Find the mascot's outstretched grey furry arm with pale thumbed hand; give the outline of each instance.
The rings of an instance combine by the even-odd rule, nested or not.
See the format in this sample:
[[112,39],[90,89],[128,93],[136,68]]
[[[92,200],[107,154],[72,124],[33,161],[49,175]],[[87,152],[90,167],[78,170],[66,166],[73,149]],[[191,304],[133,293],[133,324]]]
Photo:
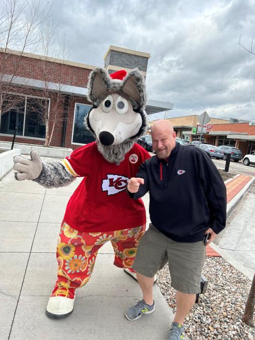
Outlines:
[[36,151],[31,152],[31,160],[18,155],[13,161],[16,179],[32,179],[45,188],[64,187],[75,179],[62,163],[43,163]]

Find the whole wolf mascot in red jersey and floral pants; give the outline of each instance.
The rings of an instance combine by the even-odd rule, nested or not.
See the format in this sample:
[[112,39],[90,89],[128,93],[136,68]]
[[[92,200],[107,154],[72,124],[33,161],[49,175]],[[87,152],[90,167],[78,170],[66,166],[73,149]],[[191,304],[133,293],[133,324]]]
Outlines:
[[136,143],[145,134],[146,92],[137,69],[111,75],[95,68],[89,76],[92,108],[87,128],[95,142],[74,150],[62,162],[44,163],[36,151],[31,160],[15,156],[16,179],[32,179],[45,188],[67,186],[84,177],[72,194],[57,244],[58,275],[46,315],[64,318],[73,311],[75,289],[92,274],[98,249],[112,243],[114,265],[131,269],[145,231],[143,202],[125,192],[127,182],[149,153]]

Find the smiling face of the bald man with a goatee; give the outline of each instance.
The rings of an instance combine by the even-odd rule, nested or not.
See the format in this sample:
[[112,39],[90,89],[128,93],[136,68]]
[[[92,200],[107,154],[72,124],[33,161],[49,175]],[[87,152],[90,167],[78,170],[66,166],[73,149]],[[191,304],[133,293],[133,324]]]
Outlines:
[[155,128],[151,132],[152,147],[160,159],[167,158],[175,147],[176,133],[169,129]]

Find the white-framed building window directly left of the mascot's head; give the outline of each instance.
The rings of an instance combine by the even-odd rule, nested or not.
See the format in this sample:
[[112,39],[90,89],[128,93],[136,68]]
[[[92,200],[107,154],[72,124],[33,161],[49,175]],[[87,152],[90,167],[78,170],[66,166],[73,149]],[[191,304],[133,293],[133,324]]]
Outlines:
[[90,108],[90,105],[75,103],[72,132],[72,143],[74,144],[87,144],[95,140],[85,125]]

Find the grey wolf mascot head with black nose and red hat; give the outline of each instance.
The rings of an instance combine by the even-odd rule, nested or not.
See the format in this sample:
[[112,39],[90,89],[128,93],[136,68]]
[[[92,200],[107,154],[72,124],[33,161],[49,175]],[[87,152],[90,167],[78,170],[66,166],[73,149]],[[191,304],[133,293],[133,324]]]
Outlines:
[[95,68],[88,82],[92,108],[87,128],[96,138],[99,152],[117,164],[147,129],[143,76],[137,69],[126,73],[121,70],[108,75],[105,69]]

